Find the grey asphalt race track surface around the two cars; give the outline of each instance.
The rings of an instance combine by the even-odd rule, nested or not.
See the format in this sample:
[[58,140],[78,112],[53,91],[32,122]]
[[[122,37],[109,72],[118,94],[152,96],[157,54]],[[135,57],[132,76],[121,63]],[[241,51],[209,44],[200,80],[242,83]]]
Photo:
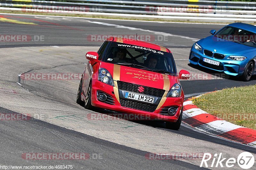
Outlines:
[[[73,19],[73,18],[57,18],[57,17],[34,17],[25,15],[5,15],[1,14],[0,17],[15,20],[13,23],[0,22],[1,35],[43,35],[44,41],[28,41],[28,42],[0,42],[2,75],[1,80],[1,100],[0,112],[1,113],[31,113],[44,107],[49,107],[49,115],[54,115],[58,112],[56,103],[58,103],[61,110],[63,108],[66,112],[72,112],[73,109],[77,113],[82,109],[81,106],[75,104],[76,89],[79,81],[72,81],[71,83],[58,81],[58,82],[21,82],[23,87],[16,84],[18,81],[17,75],[31,69],[39,69],[38,71],[46,72],[82,72],[84,69],[85,51],[90,49],[96,50],[102,42],[88,41],[90,35],[168,35],[168,41],[153,41],[159,45],[168,47],[172,50],[176,61],[178,71],[180,69],[187,69],[197,73],[209,73],[214,75],[206,69],[194,68],[188,65],[189,48],[197,40],[209,35],[211,29],[220,29],[223,25],[203,25],[203,24],[179,24],[179,23],[157,23],[157,22],[133,22],[133,21],[117,21],[117,20],[99,20],[99,19]],[[17,21],[33,22],[37,25],[19,24]],[[15,23],[16,22],[16,23]],[[136,29],[135,29],[136,28]],[[147,31],[150,30],[151,32]],[[152,32],[153,31],[153,32]],[[171,34],[173,36],[171,36]],[[38,47],[37,47],[38,46]],[[54,48],[49,46],[60,46]],[[61,47],[63,46],[63,47]],[[83,48],[86,47],[86,48]],[[91,48],[92,47],[92,48]],[[53,49],[53,50],[52,50]],[[40,54],[39,54],[40,53]],[[180,55],[179,55],[180,54]],[[35,58],[33,58],[35,55]],[[51,56],[52,55],[52,56]],[[63,55],[63,58],[56,56]],[[45,60],[40,60],[40,57],[45,57]],[[76,56],[79,56],[76,58]],[[31,57],[31,58],[28,58]],[[49,57],[49,58],[47,58]],[[53,61],[56,57],[57,61]],[[75,59],[73,59],[73,58]],[[34,60],[35,59],[35,60]],[[63,61],[61,60],[63,59]],[[179,60],[180,59],[180,60]],[[59,62],[59,64],[57,64]],[[10,64],[10,65],[8,65]],[[57,67],[56,67],[57,66]],[[47,70],[48,69],[48,70]],[[220,90],[225,87],[242,86],[255,84],[256,80],[253,79],[249,82],[241,82],[236,78],[226,79],[211,79],[211,80],[191,80],[182,81],[182,88],[185,94],[210,92]],[[30,90],[25,90],[24,88]],[[10,91],[15,91],[19,96],[10,94]],[[31,94],[30,94],[31,93]],[[66,97],[63,97],[66,96]],[[36,99],[33,99],[35,97]],[[41,99],[39,99],[41,98]],[[23,99],[23,100],[22,100]],[[14,100],[14,101],[12,101]],[[29,106],[31,100],[34,100],[35,106]],[[40,102],[39,102],[40,100]],[[41,101],[42,100],[42,101]],[[46,102],[45,104],[39,104]],[[48,101],[49,100],[49,101]],[[38,102],[38,103],[37,103]],[[52,104],[52,103],[54,104]],[[52,107],[51,107],[52,105]],[[38,108],[37,108],[38,107]],[[42,108],[41,108],[42,107]],[[66,108],[67,107],[67,108]],[[68,108],[69,107],[69,108]],[[79,111],[78,111],[79,110]],[[14,112],[13,112],[14,111]],[[104,113],[102,110],[94,110],[96,112]],[[88,113],[95,113],[94,111],[87,111]],[[56,114],[58,115],[58,114]],[[31,116],[33,117],[33,116]],[[36,116],[34,116],[36,117]],[[65,124],[66,123],[66,124]],[[182,142],[178,137],[188,137],[189,140],[201,141],[198,146],[204,147],[204,152],[220,152],[230,154],[229,156],[236,157],[239,151],[248,151],[256,153],[254,147],[231,142],[219,137],[209,136],[203,132],[196,131],[186,124],[182,124],[179,131],[165,129],[162,122],[125,122],[133,126],[140,127],[141,129],[132,130],[145,130],[148,134],[161,132],[163,134],[173,137],[174,141],[177,137],[178,145]],[[139,123],[139,124],[137,124]],[[68,128],[70,122],[63,122],[60,124],[58,120],[31,118],[29,121],[1,121],[1,156],[0,165],[74,165],[78,168],[88,169],[197,169],[198,163],[187,160],[148,160],[145,159],[145,154],[153,152],[155,146],[137,147],[134,144],[125,144],[122,140],[108,139],[111,131],[95,134],[89,131],[78,130],[75,128]],[[71,123],[72,124],[72,123]],[[106,122],[105,122],[106,124]],[[134,125],[136,124],[136,125]],[[77,126],[77,122],[75,123]],[[82,126],[82,125],[80,125]],[[96,125],[94,125],[97,128]],[[100,126],[100,125],[99,125]],[[102,125],[103,126],[103,125]],[[106,125],[108,126],[108,125]],[[109,126],[108,128],[113,128]],[[130,125],[129,125],[130,126]],[[128,126],[127,126],[128,127]],[[76,127],[77,128],[77,127]],[[72,130],[69,130],[72,129]],[[93,128],[92,128],[93,129]],[[99,127],[99,129],[101,129]],[[150,129],[150,130],[149,130]],[[148,130],[148,131],[147,131]],[[152,131],[151,131],[152,130]],[[104,129],[103,129],[104,131]],[[117,130],[118,131],[118,130]],[[121,133],[121,132],[120,132]],[[96,136],[97,136],[96,135]],[[127,135],[128,136],[128,135]],[[112,136],[114,137],[114,136]],[[118,135],[116,136],[118,138]],[[131,136],[129,136],[131,137]],[[137,136],[137,138],[140,136]],[[180,140],[180,141],[179,141]],[[123,142],[123,143],[122,143]],[[137,144],[139,145],[139,144]],[[150,145],[150,144],[149,144]],[[174,146],[173,146],[174,145]],[[184,148],[180,152],[193,152],[191,149],[195,144],[191,142],[191,148],[188,144],[183,144]],[[219,149],[212,149],[216,146]],[[187,148],[186,148],[187,147]],[[216,148],[218,148],[216,147]],[[223,149],[225,148],[225,149]],[[161,150],[162,149],[162,150]],[[173,148],[171,148],[173,149]],[[201,148],[200,148],[201,149]],[[198,150],[200,150],[198,149]],[[155,151],[164,151],[160,148]],[[166,149],[166,152],[170,150]],[[172,150],[171,150],[172,151]],[[178,153],[179,150],[173,150]],[[33,160],[28,161],[21,158],[21,153],[27,152],[86,152],[86,153],[102,153],[103,159],[89,159],[87,161],[81,160]],[[159,153],[159,152],[158,152]],[[196,164],[196,165],[193,165]],[[255,167],[255,166],[254,166]]]

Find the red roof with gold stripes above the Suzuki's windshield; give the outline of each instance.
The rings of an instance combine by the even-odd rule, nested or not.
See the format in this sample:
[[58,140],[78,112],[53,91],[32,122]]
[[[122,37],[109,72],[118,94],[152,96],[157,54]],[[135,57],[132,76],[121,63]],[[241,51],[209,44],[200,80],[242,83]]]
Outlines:
[[162,47],[162,46],[150,43],[150,42],[145,42],[145,41],[139,41],[139,40],[121,38],[121,37],[108,37],[106,40],[129,44],[129,45],[134,45],[134,46],[145,47],[145,48],[151,48],[151,49],[155,49],[155,50],[159,50],[159,51],[164,51],[167,53],[172,53],[171,50],[169,50],[168,48],[165,48],[165,47]]

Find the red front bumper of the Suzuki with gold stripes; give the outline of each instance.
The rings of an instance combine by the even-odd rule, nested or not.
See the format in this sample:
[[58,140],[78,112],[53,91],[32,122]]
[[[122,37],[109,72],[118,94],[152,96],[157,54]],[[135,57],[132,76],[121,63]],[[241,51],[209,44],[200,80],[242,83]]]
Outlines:
[[[99,100],[99,98],[97,97],[97,94],[99,94],[99,92],[103,92],[108,96],[108,99],[114,101],[114,102],[110,102],[113,104],[109,104],[106,102],[102,102]],[[166,94],[164,94],[166,95]],[[177,98],[172,98],[172,97],[168,97],[168,98],[164,98],[159,102],[158,105],[156,105],[156,110],[153,112],[148,112],[148,111],[143,111],[146,108],[144,107],[142,110],[139,109],[134,109],[131,107],[123,107],[120,104],[120,100],[124,100],[124,99],[117,99],[119,98],[119,94],[115,94],[114,92],[114,87],[105,83],[102,83],[98,80],[92,80],[92,106],[94,107],[100,107],[103,109],[107,109],[107,110],[112,110],[118,113],[125,113],[125,114],[136,114],[136,115],[141,115],[139,116],[139,118],[137,117],[138,120],[162,120],[162,121],[167,121],[167,122],[177,122],[179,116],[180,116],[180,112],[183,106],[183,101],[184,101],[184,97],[177,97]],[[184,95],[183,95],[184,96]],[[111,99],[112,98],[112,99]],[[109,100],[109,101],[110,101]],[[127,100],[127,99],[125,99]],[[130,100],[131,101],[131,100]],[[138,102],[135,102],[138,105]],[[143,104],[141,104],[143,105]],[[154,106],[155,107],[155,106]],[[168,108],[168,107],[177,107],[177,111],[175,113],[175,115],[166,115],[166,114],[162,114],[163,112],[160,113],[161,110],[164,110],[163,108]],[[166,109],[165,109],[166,110]]]

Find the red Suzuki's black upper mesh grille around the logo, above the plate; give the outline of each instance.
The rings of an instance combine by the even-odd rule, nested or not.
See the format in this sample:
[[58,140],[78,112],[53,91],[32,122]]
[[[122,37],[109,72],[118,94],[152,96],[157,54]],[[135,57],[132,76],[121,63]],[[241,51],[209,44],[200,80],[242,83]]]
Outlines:
[[[136,92],[139,93],[138,88],[141,85],[136,85],[132,83],[127,83],[123,81],[117,81],[117,87],[119,90],[125,90],[128,92]],[[165,90],[163,89],[157,89],[153,87],[147,87],[147,86],[142,86],[144,88],[144,92],[141,92],[141,94],[144,95],[149,95],[149,96],[156,96],[156,97],[163,97]]]

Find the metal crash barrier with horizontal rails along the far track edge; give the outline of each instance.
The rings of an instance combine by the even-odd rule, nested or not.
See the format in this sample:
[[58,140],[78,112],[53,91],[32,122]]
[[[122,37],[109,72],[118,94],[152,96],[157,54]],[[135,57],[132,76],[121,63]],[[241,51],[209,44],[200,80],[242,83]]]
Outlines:
[[[2,10],[145,18],[256,21],[256,2],[207,0],[1,0]],[[122,14],[122,15],[120,15]]]

